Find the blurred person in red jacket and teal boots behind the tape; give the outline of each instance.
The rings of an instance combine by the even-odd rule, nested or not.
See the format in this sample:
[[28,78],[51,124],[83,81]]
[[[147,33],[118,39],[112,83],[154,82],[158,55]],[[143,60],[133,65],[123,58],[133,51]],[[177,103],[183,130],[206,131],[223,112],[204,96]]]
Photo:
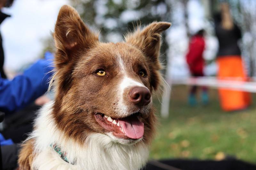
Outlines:
[[[191,37],[189,42],[189,49],[186,55],[186,60],[192,76],[204,76],[204,73],[203,73],[203,70],[204,70],[203,52],[205,47],[204,33],[205,31],[203,29],[199,30],[195,35]],[[203,104],[207,104],[208,103],[207,88],[203,87],[202,89],[203,89],[203,92],[201,95],[202,101],[203,101]],[[197,90],[196,86],[193,86],[190,89],[188,103],[192,106],[196,105],[197,103],[196,90]]]

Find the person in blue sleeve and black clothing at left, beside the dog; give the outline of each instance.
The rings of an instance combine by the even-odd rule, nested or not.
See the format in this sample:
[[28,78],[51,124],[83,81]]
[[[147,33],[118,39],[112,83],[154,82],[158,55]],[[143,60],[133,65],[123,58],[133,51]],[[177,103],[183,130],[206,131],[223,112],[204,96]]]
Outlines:
[[[0,10],[10,7],[13,0],[0,0]],[[0,24],[9,15],[0,11]],[[37,60],[23,74],[8,80],[4,72],[4,49],[0,35],[0,169],[15,169],[19,143],[26,138],[26,133],[32,130],[32,120],[35,117],[36,105],[49,102],[49,98],[42,96],[48,89],[52,76],[52,53],[46,52],[44,59]],[[17,56],[25,57],[25,56]],[[42,96],[42,97],[40,97]],[[39,98],[38,98],[39,97]],[[36,100],[36,101],[35,101]],[[35,101],[35,104],[33,102]],[[31,107],[32,106],[32,107]],[[2,114],[5,113],[5,116]],[[4,116],[4,117],[3,117]]]

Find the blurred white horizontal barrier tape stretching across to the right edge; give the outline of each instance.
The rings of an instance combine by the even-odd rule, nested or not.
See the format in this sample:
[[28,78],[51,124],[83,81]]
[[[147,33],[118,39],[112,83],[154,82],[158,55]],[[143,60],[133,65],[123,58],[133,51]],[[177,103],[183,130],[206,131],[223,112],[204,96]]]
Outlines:
[[197,85],[229,90],[246,91],[256,93],[256,81],[241,81],[241,78],[218,79],[216,77],[198,77],[172,79],[168,84]]

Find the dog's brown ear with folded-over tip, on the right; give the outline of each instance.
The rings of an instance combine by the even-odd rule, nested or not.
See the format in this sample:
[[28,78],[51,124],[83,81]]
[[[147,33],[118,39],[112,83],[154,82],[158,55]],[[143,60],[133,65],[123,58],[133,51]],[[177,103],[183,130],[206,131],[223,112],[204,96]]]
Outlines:
[[140,30],[140,27],[125,37],[125,41],[139,48],[144,54],[155,62],[160,52],[161,32],[171,26],[168,22],[153,22]]

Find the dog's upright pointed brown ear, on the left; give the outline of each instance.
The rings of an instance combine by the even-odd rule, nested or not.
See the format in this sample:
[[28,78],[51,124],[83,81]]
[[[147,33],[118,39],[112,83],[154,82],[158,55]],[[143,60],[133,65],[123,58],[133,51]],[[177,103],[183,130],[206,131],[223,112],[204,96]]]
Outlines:
[[66,57],[80,48],[89,48],[98,41],[98,35],[92,32],[77,11],[68,5],[61,7],[53,35],[57,49],[65,53]]

